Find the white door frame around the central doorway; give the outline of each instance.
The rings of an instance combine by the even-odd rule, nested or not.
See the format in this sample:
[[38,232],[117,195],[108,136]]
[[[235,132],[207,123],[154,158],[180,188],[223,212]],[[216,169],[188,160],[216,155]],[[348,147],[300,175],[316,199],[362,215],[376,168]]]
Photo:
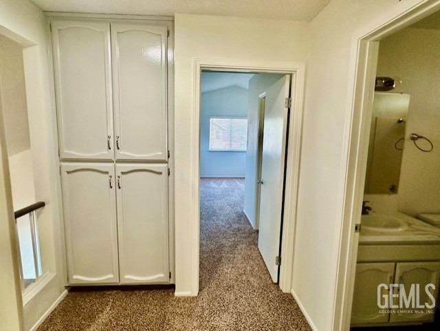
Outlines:
[[284,61],[234,61],[230,59],[195,58],[192,60],[194,89],[193,142],[191,147],[192,172],[190,184],[194,194],[192,199],[192,217],[190,219],[191,250],[191,295],[199,292],[199,249],[200,249],[200,99],[201,71],[221,72],[259,72],[292,75],[292,107],[289,118],[289,137],[287,147],[287,169],[285,175],[284,222],[281,242],[281,260],[279,286],[289,293],[292,288],[292,269],[294,261],[294,238],[296,226],[296,204],[298,200],[298,182],[300,170],[300,146],[303,127],[303,99],[305,85],[305,63]]

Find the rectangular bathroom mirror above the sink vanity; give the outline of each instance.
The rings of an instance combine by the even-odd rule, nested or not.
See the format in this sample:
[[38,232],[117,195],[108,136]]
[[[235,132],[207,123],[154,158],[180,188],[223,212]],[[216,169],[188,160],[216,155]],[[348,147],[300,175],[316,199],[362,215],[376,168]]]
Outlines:
[[365,193],[395,194],[399,189],[409,94],[375,92]]

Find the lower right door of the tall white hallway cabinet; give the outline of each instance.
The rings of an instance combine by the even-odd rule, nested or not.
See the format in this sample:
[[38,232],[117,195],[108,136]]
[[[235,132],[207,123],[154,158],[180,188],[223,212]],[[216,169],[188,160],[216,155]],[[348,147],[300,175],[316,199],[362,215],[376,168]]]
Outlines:
[[117,164],[121,284],[169,281],[168,167]]

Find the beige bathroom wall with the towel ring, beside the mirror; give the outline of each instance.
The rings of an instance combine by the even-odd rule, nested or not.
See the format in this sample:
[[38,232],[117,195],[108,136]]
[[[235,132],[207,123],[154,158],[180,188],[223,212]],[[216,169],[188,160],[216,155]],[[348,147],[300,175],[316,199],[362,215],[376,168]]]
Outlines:
[[[378,76],[399,78],[393,92],[410,94],[398,209],[412,216],[440,213],[439,54],[440,30],[406,28],[380,42]],[[430,138],[432,152],[419,151],[408,139],[411,133]]]

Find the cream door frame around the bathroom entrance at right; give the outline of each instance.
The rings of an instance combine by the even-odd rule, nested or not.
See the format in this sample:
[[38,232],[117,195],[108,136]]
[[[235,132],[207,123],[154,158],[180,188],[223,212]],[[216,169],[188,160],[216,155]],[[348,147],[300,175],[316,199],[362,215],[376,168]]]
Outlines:
[[350,328],[351,308],[355,281],[364,181],[368,157],[370,122],[373,111],[374,77],[377,70],[379,41],[402,28],[440,10],[440,0],[411,0],[401,3],[385,16],[356,31],[351,39],[349,63],[349,91],[347,95],[347,127],[343,157],[346,162],[344,205],[339,244],[338,269],[333,303],[332,330]]

